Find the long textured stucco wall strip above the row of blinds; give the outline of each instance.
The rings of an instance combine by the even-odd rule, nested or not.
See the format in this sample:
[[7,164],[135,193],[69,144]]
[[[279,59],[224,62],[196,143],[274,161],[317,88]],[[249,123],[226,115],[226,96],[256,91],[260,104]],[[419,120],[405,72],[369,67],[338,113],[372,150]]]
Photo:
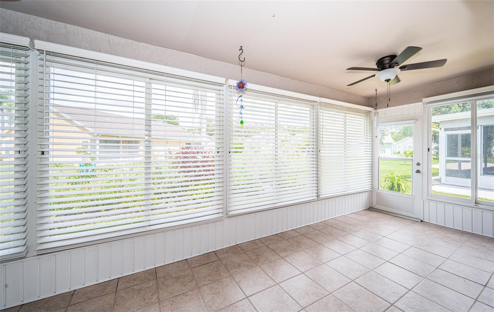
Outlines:
[[[238,79],[240,75],[240,66],[238,65],[107,35],[82,27],[6,9],[0,9],[0,30],[2,33],[118,55],[227,79]],[[243,77],[248,82],[254,84],[358,105],[369,105],[369,99],[364,96],[254,71],[248,68],[244,68]]]

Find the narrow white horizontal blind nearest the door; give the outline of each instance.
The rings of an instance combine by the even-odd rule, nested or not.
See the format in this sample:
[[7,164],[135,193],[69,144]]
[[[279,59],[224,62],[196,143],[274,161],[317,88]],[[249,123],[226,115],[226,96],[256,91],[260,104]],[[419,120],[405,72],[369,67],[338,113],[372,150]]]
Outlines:
[[320,104],[319,196],[371,190],[371,112]]

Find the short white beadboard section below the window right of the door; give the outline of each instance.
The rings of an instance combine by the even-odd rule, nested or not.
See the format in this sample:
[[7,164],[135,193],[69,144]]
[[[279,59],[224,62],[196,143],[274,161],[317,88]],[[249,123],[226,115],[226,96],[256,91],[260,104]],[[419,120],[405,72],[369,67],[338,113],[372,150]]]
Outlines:
[[424,200],[423,221],[494,237],[494,211]]

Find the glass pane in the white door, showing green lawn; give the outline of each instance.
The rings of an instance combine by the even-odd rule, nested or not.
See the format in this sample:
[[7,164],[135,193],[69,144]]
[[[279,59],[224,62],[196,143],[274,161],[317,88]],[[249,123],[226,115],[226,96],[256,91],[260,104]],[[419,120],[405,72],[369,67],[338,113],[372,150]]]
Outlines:
[[413,151],[403,152],[404,142],[413,147],[413,124],[381,123],[379,144],[387,149],[379,153],[379,190],[412,194]]

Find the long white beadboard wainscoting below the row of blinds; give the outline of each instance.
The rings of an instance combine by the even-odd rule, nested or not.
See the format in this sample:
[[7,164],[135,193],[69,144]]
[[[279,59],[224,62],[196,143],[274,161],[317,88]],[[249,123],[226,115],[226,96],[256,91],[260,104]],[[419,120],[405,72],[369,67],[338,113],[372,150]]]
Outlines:
[[370,205],[371,192],[363,192],[2,263],[0,307],[14,307]]

